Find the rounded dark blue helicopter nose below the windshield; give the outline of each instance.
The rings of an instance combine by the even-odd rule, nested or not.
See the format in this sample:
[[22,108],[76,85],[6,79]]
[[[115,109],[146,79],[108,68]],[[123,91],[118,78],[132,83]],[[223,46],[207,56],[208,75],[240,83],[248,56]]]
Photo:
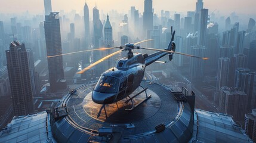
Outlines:
[[92,101],[97,104],[111,104],[115,101],[115,94],[104,94],[101,92],[92,92]]

